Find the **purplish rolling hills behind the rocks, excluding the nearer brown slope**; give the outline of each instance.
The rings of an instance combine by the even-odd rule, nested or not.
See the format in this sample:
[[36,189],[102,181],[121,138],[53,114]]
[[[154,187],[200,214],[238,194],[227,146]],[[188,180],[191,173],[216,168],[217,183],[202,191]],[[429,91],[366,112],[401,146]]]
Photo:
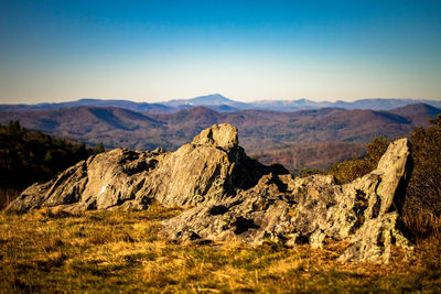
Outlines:
[[[415,110],[421,107],[427,111]],[[26,128],[51,134],[131,149],[174,149],[202,129],[227,122],[239,129],[246,148],[272,149],[289,142],[369,142],[375,135],[394,139],[409,133],[419,122],[440,112],[440,109],[427,106],[394,111],[324,108],[295,112],[243,110],[222,113],[195,107],[175,113],[150,115],[116,107],[78,107],[2,112],[0,122],[20,120]]]

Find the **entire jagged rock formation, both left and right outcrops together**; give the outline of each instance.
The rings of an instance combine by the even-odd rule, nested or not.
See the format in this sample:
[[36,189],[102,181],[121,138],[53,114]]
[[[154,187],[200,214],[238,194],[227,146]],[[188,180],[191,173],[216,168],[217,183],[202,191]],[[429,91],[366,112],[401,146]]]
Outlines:
[[92,156],[57,178],[34,184],[7,210],[62,206],[146,209],[152,199],[194,206],[163,221],[161,235],[178,242],[266,240],[288,246],[345,240],[347,261],[386,262],[392,243],[406,247],[397,228],[411,171],[407,139],[391,143],[378,167],[353,183],[332,176],[292,178],[265,166],[238,145],[237,129],[215,124],[175,152],[117,149]]

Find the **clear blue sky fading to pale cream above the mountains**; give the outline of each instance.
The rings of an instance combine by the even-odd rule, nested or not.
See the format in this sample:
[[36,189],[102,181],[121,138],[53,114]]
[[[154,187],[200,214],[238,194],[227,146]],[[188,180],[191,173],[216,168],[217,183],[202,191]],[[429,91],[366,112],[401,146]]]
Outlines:
[[0,0],[0,104],[441,100],[441,1]]

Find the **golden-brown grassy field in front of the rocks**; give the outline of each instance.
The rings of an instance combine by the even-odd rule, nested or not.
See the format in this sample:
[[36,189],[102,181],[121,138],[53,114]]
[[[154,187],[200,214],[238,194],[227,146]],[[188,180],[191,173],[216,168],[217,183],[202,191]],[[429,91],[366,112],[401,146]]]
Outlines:
[[441,242],[398,248],[389,264],[343,264],[347,244],[324,250],[278,243],[175,244],[158,238],[160,220],[180,209],[42,209],[0,215],[0,292],[441,292]]

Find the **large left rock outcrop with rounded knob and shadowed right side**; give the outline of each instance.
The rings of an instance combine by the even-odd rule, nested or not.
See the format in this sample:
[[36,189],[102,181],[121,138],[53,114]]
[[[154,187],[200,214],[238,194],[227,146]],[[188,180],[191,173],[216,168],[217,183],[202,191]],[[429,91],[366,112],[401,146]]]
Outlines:
[[153,198],[170,206],[222,202],[272,170],[288,173],[250,160],[238,146],[237,129],[215,124],[176,152],[116,149],[92,156],[56,179],[29,187],[6,210],[144,209]]

